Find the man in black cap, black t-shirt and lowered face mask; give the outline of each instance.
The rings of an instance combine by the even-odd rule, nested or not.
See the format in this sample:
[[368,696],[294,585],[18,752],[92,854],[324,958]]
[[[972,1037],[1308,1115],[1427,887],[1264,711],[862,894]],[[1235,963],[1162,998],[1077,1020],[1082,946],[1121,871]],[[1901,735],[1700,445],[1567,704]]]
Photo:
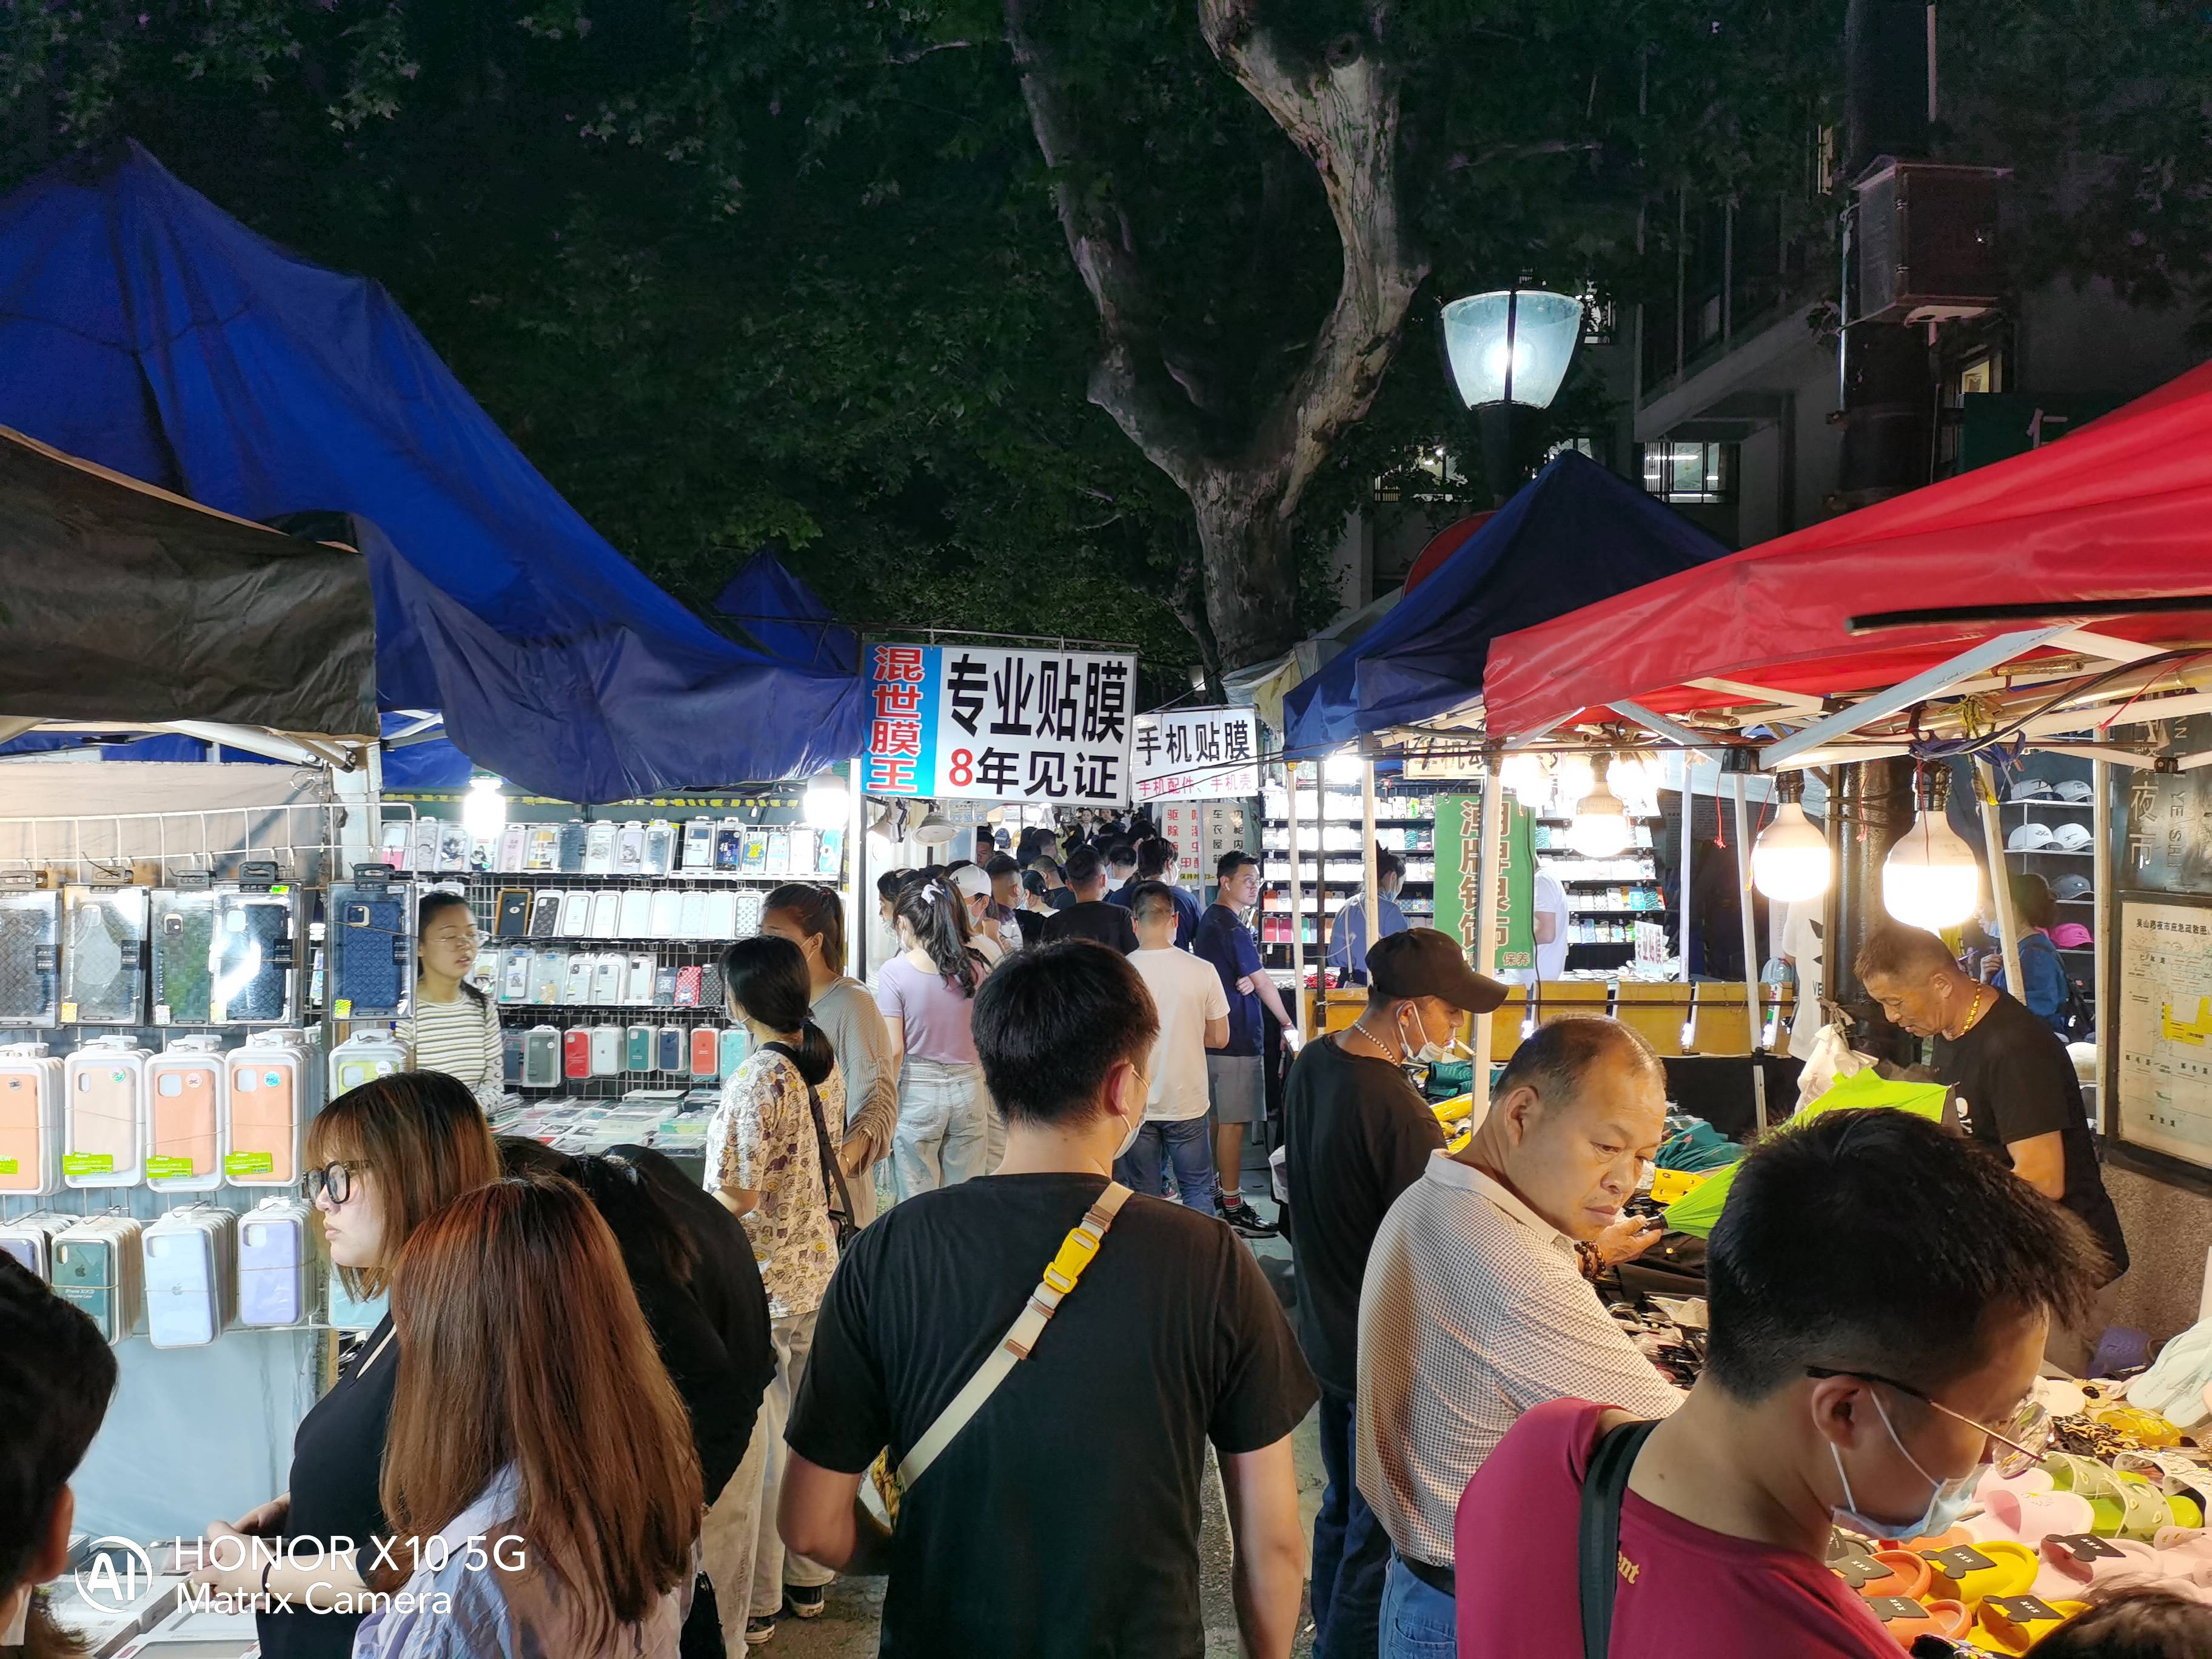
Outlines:
[[1506,991],[1467,967],[1433,927],[1376,940],[1367,1009],[1307,1044],[1283,1093],[1290,1243],[1298,1263],[1298,1343],[1321,1383],[1321,1460],[1329,1484],[1314,1517],[1314,1655],[1374,1655],[1389,1537],[1354,1482],[1360,1276],[1389,1206],[1444,1146],[1436,1113],[1402,1066],[1436,1060],[1467,1013]]

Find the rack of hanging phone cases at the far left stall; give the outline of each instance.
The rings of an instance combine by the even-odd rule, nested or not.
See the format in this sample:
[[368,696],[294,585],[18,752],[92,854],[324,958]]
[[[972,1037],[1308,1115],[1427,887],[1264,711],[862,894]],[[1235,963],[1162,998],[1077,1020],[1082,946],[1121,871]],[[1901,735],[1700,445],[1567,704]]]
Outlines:
[[0,1252],[113,1343],[358,1325],[299,1194],[325,978],[396,980],[325,940],[347,810],[0,818]]

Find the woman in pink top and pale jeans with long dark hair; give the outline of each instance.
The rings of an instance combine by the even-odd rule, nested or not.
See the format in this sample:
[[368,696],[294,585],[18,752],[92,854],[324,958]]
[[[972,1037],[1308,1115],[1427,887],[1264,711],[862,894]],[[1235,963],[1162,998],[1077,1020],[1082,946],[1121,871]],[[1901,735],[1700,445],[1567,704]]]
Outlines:
[[898,1068],[891,1175],[911,1199],[991,1170],[991,1097],[969,1031],[987,969],[949,880],[907,887],[891,920],[902,949],[876,978],[876,1006]]

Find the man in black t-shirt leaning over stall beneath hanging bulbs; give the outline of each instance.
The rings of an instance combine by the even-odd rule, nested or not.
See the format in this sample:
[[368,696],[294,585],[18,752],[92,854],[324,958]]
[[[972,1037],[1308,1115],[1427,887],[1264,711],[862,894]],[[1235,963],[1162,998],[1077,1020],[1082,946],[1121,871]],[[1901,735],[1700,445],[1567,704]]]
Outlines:
[[1936,1037],[1936,1077],[1953,1091],[1960,1126],[2081,1217],[2110,1259],[2090,1327],[2051,1332],[2051,1360],[2086,1376],[2112,1310],[2112,1281],[2128,1272],[2128,1241],[2104,1190],[2066,1044],[2004,991],[1975,982],[1918,927],[1876,931],[1858,951],[1858,978],[1893,1024]]

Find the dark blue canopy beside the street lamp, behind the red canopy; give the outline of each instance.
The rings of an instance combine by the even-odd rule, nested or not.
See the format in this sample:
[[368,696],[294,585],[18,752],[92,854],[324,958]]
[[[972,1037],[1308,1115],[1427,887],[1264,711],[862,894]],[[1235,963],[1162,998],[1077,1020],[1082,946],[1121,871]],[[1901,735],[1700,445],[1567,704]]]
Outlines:
[[1728,553],[1681,513],[1573,449],[1491,513],[1358,644],[1283,699],[1285,748],[1447,714],[1482,695],[1491,639]]

